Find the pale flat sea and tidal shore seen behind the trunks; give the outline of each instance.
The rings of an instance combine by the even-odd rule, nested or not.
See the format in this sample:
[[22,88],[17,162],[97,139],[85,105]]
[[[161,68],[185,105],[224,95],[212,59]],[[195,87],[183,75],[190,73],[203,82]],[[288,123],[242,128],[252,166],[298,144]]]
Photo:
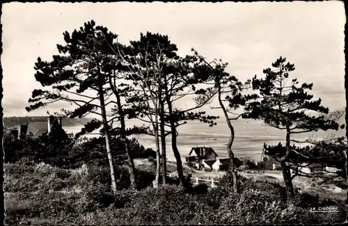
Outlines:
[[[128,127],[140,125],[139,121],[129,120],[126,122]],[[285,143],[285,131],[268,127],[260,120],[234,120],[232,125],[235,128],[235,140],[232,145],[232,151],[240,159],[251,159],[260,161],[263,144],[278,145]],[[65,131],[76,134],[82,126],[64,127]],[[182,159],[187,156],[192,147],[212,147],[218,154],[218,158],[228,157],[227,143],[230,139],[230,131],[223,118],[216,120],[214,127],[209,127],[204,122],[191,121],[177,128],[177,147]],[[322,139],[331,135],[345,136],[345,129],[338,131],[317,131],[306,134],[292,134],[296,140],[305,140],[306,138]],[[96,135],[92,135],[96,136]],[[145,148],[150,147],[155,150],[155,138],[153,136],[133,136],[139,140],[139,143]],[[301,143],[300,146],[308,144]],[[166,138],[166,154],[169,160],[175,160],[171,149],[171,136]]]

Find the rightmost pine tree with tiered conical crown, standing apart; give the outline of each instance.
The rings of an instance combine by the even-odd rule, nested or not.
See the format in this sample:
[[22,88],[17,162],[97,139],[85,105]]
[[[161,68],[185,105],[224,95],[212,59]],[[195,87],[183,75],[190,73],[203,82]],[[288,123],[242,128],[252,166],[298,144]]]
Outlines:
[[[283,172],[287,195],[294,195],[290,174],[290,154],[292,149],[291,135],[302,134],[322,129],[337,130],[339,124],[326,118],[329,108],[322,106],[322,100],[313,100],[313,95],[307,90],[313,88],[313,83],[303,83],[299,86],[297,79],[289,79],[290,72],[295,70],[294,64],[280,57],[272,63],[273,69],[263,70],[264,78],[253,78],[253,88],[260,91],[260,99],[255,99],[246,105],[243,118],[262,120],[267,126],[286,131],[285,152],[277,156]],[[316,113],[316,114],[315,114]],[[319,113],[319,114],[318,114]]]

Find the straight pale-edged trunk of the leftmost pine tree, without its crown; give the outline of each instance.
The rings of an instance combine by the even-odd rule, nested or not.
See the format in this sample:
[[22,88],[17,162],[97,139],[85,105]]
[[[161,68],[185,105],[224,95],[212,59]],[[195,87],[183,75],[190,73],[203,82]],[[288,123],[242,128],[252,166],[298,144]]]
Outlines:
[[116,184],[116,179],[115,179],[115,169],[113,167],[113,157],[112,157],[111,149],[110,149],[109,125],[108,125],[107,120],[106,120],[105,100],[104,100],[104,93],[102,90],[102,86],[100,86],[100,88],[99,88],[99,98],[100,98],[100,106],[102,108],[102,122],[103,122],[103,127],[104,127],[106,153],[108,155],[109,166],[110,166],[111,188],[113,190],[113,193],[116,193],[117,184]]

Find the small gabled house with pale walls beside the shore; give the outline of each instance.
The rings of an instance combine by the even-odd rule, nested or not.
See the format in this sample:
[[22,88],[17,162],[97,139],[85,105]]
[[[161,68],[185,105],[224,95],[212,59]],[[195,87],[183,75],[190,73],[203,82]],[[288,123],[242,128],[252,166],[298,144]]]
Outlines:
[[[216,161],[218,154],[214,152],[212,147],[192,147],[189,155],[186,156],[186,162],[189,166],[198,169],[212,168],[212,161]],[[211,166],[210,166],[211,165]]]

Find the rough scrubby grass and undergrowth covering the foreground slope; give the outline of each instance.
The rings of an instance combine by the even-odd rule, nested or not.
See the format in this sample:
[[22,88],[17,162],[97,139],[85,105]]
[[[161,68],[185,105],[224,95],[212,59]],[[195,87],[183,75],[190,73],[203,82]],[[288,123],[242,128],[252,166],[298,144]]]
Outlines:
[[[144,159],[136,159],[135,165],[138,170],[152,172],[155,169]],[[321,218],[310,215],[304,207],[278,203],[278,191],[267,185],[277,178],[269,175],[241,172],[240,175],[247,179],[241,179],[243,189],[239,195],[231,194],[225,187],[197,193],[171,185],[159,190],[151,187],[141,191],[122,190],[110,195],[109,179],[106,178],[106,184],[103,184],[100,176],[95,175],[97,172],[86,166],[76,170],[63,170],[44,163],[30,166],[4,164],[3,167],[6,223],[10,225],[29,222],[31,225],[272,224],[272,219],[276,223],[291,223],[315,218],[322,220],[320,223],[329,223],[333,218],[331,220],[337,223],[340,219],[340,215]],[[168,163],[169,172],[175,172],[175,169],[175,163]],[[184,172],[208,179],[222,175],[187,166],[184,166]],[[220,179],[222,184],[224,180],[226,177]],[[310,191],[314,195],[317,192]],[[327,198],[342,200],[342,197],[337,194],[337,197]],[[255,201],[262,203],[263,208],[259,208]]]

